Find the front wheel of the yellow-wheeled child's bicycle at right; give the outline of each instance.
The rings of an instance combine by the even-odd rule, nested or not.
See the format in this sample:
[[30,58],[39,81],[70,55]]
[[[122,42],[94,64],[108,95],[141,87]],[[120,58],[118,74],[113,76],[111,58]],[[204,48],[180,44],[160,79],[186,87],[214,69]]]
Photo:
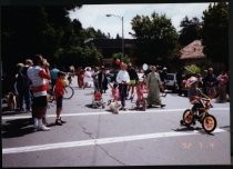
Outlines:
[[212,115],[207,115],[203,118],[202,128],[205,132],[211,133],[216,128],[216,119]]

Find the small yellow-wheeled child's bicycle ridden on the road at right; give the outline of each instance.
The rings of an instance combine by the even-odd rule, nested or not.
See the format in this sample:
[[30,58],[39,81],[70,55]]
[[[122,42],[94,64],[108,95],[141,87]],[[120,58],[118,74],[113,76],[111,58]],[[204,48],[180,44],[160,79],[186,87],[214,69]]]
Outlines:
[[204,105],[203,108],[199,108],[197,111],[193,112],[191,109],[186,109],[183,112],[183,119],[180,121],[181,125],[190,127],[195,125],[197,120],[206,133],[211,133],[216,128],[216,118],[213,115],[210,115],[207,110],[212,108],[211,99],[201,98]]

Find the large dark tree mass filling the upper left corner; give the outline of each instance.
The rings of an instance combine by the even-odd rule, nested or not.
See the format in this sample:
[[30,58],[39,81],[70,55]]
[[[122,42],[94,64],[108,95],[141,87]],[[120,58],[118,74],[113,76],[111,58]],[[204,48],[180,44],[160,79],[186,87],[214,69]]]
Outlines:
[[[43,54],[49,62],[60,68],[70,64],[99,64],[101,54],[84,39],[91,30],[83,29],[79,20],[71,21],[62,7],[2,7],[2,62],[3,91],[12,88],[17,62],[24,62],[36,53]],[[92,30],[93,38],[107,38],[100,30]]]

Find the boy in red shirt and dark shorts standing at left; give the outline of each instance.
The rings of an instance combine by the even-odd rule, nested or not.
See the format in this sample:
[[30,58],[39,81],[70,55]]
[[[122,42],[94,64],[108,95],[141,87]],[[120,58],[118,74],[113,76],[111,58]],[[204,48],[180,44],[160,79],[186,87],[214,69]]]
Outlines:
[[61,120],[61,110],[62,110],[62,100],[64,95],[64,86],[65,86],[65,73],[62,71],[58,72],[58,79],[55,81],[55,101],[57,101],[57,119],[55,125],[62,126],[65,121]]

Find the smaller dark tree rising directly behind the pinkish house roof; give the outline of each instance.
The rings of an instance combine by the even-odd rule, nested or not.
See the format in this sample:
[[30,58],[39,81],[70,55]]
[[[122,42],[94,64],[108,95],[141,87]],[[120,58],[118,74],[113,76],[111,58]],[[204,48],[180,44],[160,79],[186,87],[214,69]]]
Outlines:
[[201,23],[196,17],[191,20],[185,17],[181,21],[180,27],[182,28],[179,36],[179,43],[181,46],[188,46],[193,40],[200,39]]

